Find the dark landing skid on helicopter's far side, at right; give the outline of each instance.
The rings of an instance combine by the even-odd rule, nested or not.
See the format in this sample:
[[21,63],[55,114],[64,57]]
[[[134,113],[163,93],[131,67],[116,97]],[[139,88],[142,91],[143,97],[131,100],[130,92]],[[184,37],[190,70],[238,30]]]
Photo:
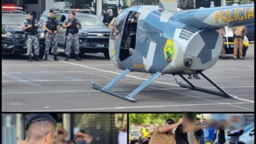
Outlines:
[[204,75],[201,72],[199,72],[200,75],[202,75],[207,81],[209,81],[211,84],[213,84],[213,86],[215,86],[215,88],[217,88],[219,90],[219,92],[215,91],[215,90],[209,90],[207,88],[200,88],[197,86],[194,86],[194,84],[192,84],[190,81],[188,81],[188,79],[186,79],[186,77],[184,77],[183,75],[179,75],[184,81],[186,81],[188,84],[183,84],[182,82],[180,82],[177,78],[175,78],[175,81],[177,82],[177,84],[179,84],[181,87],[183,88],[190,88],[192,90],[198,90],[200,92],[206,92],[209,94],[215,94],[217,96],[223,96],[226,98],[232,98],[232,99],[236,99],[236,96],[232,96],[230,94],[228,94],[225,90],[223,90],[223,88],[221,88],[218,84],[216,84],[215,82],[213,82],[211,79],[209,79],[209,77],[207,77],[206,75]]

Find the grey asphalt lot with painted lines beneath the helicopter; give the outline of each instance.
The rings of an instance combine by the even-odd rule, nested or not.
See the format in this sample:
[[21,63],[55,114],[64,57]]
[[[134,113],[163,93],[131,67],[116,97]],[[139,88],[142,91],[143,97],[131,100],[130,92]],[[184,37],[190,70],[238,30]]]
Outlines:
[[[223,98],[181,88],[173,75],[162,75],[135,96],[137,103],[93,89],[89,80],[104,86],[121,73],[103,54],[86,54],[82,62],[28,62],[25,55],[2,58],[2,111],[254,111],[254,43],[245,60],[219,60],[205,75],[238,99]],[[151,75],[132,72],[112,90],[129,94]],[[177,77],[177,76],[175,76]],[[213,88],[205,79],[192,79],[197,86]]]

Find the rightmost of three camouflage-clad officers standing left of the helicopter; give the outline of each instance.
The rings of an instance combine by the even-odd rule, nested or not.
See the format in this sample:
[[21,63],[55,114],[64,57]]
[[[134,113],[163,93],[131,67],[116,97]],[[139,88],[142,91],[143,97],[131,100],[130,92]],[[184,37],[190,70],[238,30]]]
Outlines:
[[81,29],[81,23],[77,18],[75,18],[75,12],[70,12],[70,18],[65,20],[63,28],[67,28],[66,30],[66,48],[65,54],[66,58],[65,61],[68,60],[70,55],[70,46],[74,45],[75,50],[75,60],[81,61],[79,58],[79,39],[78,39],[78,31]]

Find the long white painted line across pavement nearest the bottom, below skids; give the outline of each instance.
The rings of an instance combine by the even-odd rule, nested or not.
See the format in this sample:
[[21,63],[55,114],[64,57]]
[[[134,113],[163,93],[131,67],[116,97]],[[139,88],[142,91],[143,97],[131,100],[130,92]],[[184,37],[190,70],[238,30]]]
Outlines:
[[[184,104],[184,105],[145,105],[145,106],[135,106],[135,107],[100,107],[100,108],[88,108],[88,109],[49,109],[47,111],[96,111],[96,110],[116,110],[116,109],[142,109],[142,108],[152,108],[152,107],[188,107],[188,106],[205,106],[205,105],[234,105],[234,104],[246,104],[247,102],[240,103],[196,103],[196,104]],[[29,111],[29,110],[26,110]],[[42,109],[33,110],[35,111],[45,111]],[[183,111],[183,109],[181,109]],[[249,109],[249,111],[254,111],[253,109]]]

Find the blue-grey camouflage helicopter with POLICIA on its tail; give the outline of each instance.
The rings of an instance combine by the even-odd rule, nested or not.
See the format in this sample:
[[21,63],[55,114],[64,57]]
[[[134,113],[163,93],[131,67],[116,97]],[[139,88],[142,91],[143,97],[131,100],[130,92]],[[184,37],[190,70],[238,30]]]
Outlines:
[[[135,102],[133,97],[163,74],[179,75],[188,84],[175,79],[184,88],[236,98],[203,74],[215,65],[221,53],[222,38],[217,32],[224,26],[254,24],[254,4],[178,10],[177,1],[160,0],[159,6],[136,6],[121,12],[110,35],[112,63],[124,71],[103,88],[91,79],[93,88]],[[129,95],[110,90],[131,71],[151,73]],[[183,75],[200,73],[218,91],[194,86]]]

